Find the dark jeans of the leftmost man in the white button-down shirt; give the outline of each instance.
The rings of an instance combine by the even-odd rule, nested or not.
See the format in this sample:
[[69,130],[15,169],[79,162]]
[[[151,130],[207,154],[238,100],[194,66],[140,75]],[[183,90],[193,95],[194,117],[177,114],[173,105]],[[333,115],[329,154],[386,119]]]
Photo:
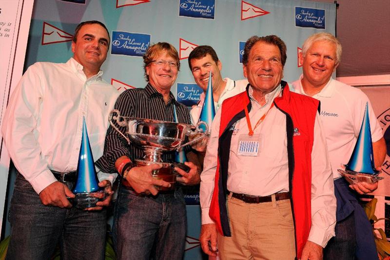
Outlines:
[[15,180],[9,221],[7,260],[49,260],[58,243],[63,260],[104,259],[106,211],[45,206],[20,173]]

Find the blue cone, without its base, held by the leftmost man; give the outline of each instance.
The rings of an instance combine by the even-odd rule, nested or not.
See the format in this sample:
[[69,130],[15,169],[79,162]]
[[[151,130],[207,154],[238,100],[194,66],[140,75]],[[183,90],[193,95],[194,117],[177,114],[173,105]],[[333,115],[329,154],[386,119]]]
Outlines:
[[88,138],[87,125],[85,123],[85,118],[83,117],[82,138],[77,165],[77,181],[73,193],[78,194],[98,191],[100,189],[98,182],[98,175],[96,174],[94,158],[92,156],[91,145]]

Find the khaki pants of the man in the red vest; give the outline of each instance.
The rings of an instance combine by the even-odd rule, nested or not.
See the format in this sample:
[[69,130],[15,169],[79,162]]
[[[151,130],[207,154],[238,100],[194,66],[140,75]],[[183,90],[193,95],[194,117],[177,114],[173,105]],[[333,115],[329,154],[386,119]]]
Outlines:
[[293,260],[295,236],[290,200],[245,203],[228,197],[232,237],[218,234],[221,260]]

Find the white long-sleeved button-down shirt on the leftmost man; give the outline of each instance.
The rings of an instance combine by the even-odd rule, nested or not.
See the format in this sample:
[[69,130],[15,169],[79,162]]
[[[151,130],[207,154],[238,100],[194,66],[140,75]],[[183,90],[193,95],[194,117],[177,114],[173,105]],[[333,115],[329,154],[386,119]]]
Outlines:
[[[119,93],[102,80],[102,71],[87,79],[82,69],[73,58],[31,65],[2,120],[9,154],[38,194],[56,181],[50,169],[77,170],[83,117],[94,159],[103,154],[108,115]],[[115,177],[100,173],[99,179]]]

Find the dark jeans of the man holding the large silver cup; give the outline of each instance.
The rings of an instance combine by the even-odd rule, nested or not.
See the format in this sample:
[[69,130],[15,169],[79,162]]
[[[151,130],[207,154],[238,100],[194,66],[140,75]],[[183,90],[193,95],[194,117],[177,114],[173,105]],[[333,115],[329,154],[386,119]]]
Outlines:
[[113,228],[118,260],[181,260],[186,228],[181,189],[153,197],[119,188]]

